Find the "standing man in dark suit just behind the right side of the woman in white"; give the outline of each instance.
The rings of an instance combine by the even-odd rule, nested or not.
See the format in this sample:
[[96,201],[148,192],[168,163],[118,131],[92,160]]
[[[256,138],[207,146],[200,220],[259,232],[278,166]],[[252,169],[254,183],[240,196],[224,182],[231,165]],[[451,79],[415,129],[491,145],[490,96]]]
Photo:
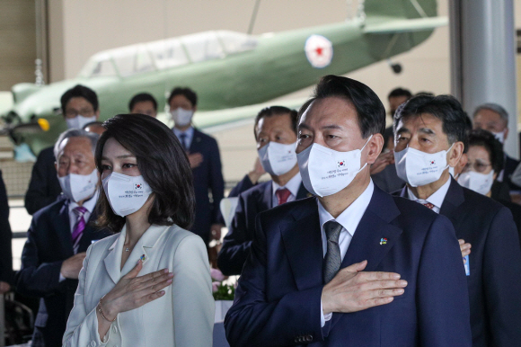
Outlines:
[[191,231],[208,244],[211,239],[221,238],[223,225],[219,204],[225,195],[225,180],[216,139],[191,126],[197,101],[197,94],[190,88],[176,87],[168,98],[174,122],[173,133],[187,151],[193,173],[196,218]]

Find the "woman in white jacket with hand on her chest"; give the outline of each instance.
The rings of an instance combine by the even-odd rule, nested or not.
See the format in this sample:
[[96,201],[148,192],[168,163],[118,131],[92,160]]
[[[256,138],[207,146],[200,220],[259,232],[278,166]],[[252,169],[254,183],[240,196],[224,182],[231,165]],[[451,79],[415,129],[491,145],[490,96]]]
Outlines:
[[187,156],[152,117],[118,115],[104,126],[98,224],[117,234],[87,251],[63,344],[211,346],[208,255],[185,230],[194,216]]

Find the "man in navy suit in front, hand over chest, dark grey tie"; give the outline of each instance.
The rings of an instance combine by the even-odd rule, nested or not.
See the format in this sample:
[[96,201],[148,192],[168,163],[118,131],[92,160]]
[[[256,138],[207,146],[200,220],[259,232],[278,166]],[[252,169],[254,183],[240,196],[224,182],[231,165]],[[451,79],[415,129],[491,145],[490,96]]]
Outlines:
[[316,198],[258,216],[225,318],[230,345],[470,346],[450,221],[370,179],[382,102],[366,85],[325,76],[299,114],[297,161]]

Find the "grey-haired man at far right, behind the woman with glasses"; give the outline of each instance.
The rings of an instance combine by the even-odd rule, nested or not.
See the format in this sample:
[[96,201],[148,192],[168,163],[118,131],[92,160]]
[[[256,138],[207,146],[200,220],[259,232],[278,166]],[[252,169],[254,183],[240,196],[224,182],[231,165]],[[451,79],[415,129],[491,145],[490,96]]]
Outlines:
[[[502,144],[508,138],[508,112],[497,103],[483,103],[472,115],[473,129],[490,131]],[[510,181],[519,161],[505,153],[505,166],[498,175],[498,182],[508,182],[510,191],[521,191],[521,187]]]

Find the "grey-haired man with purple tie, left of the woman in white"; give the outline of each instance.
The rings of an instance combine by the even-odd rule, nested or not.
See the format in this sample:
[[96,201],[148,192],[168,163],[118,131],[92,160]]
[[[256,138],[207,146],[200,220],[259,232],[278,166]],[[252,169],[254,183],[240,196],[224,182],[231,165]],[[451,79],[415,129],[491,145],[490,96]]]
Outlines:
[[55,155],[64,199],[40,209],[32,218],[16,286],[22,295],[41,298],[33,346],[62,345],[85,252],[95,240],[110,235],[89,224],[96,218],[99,194],[93,156],[97,140],[97,134],[81,129],[60,135]]

